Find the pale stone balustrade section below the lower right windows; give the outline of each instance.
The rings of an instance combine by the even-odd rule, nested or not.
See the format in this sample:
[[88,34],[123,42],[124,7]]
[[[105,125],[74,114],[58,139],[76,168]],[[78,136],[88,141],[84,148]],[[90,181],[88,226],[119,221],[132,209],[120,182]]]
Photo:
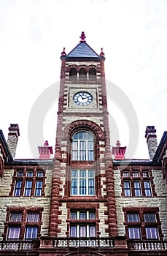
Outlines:
[[167,250],[167,241],[128,241],[128,248],[135,250]]

